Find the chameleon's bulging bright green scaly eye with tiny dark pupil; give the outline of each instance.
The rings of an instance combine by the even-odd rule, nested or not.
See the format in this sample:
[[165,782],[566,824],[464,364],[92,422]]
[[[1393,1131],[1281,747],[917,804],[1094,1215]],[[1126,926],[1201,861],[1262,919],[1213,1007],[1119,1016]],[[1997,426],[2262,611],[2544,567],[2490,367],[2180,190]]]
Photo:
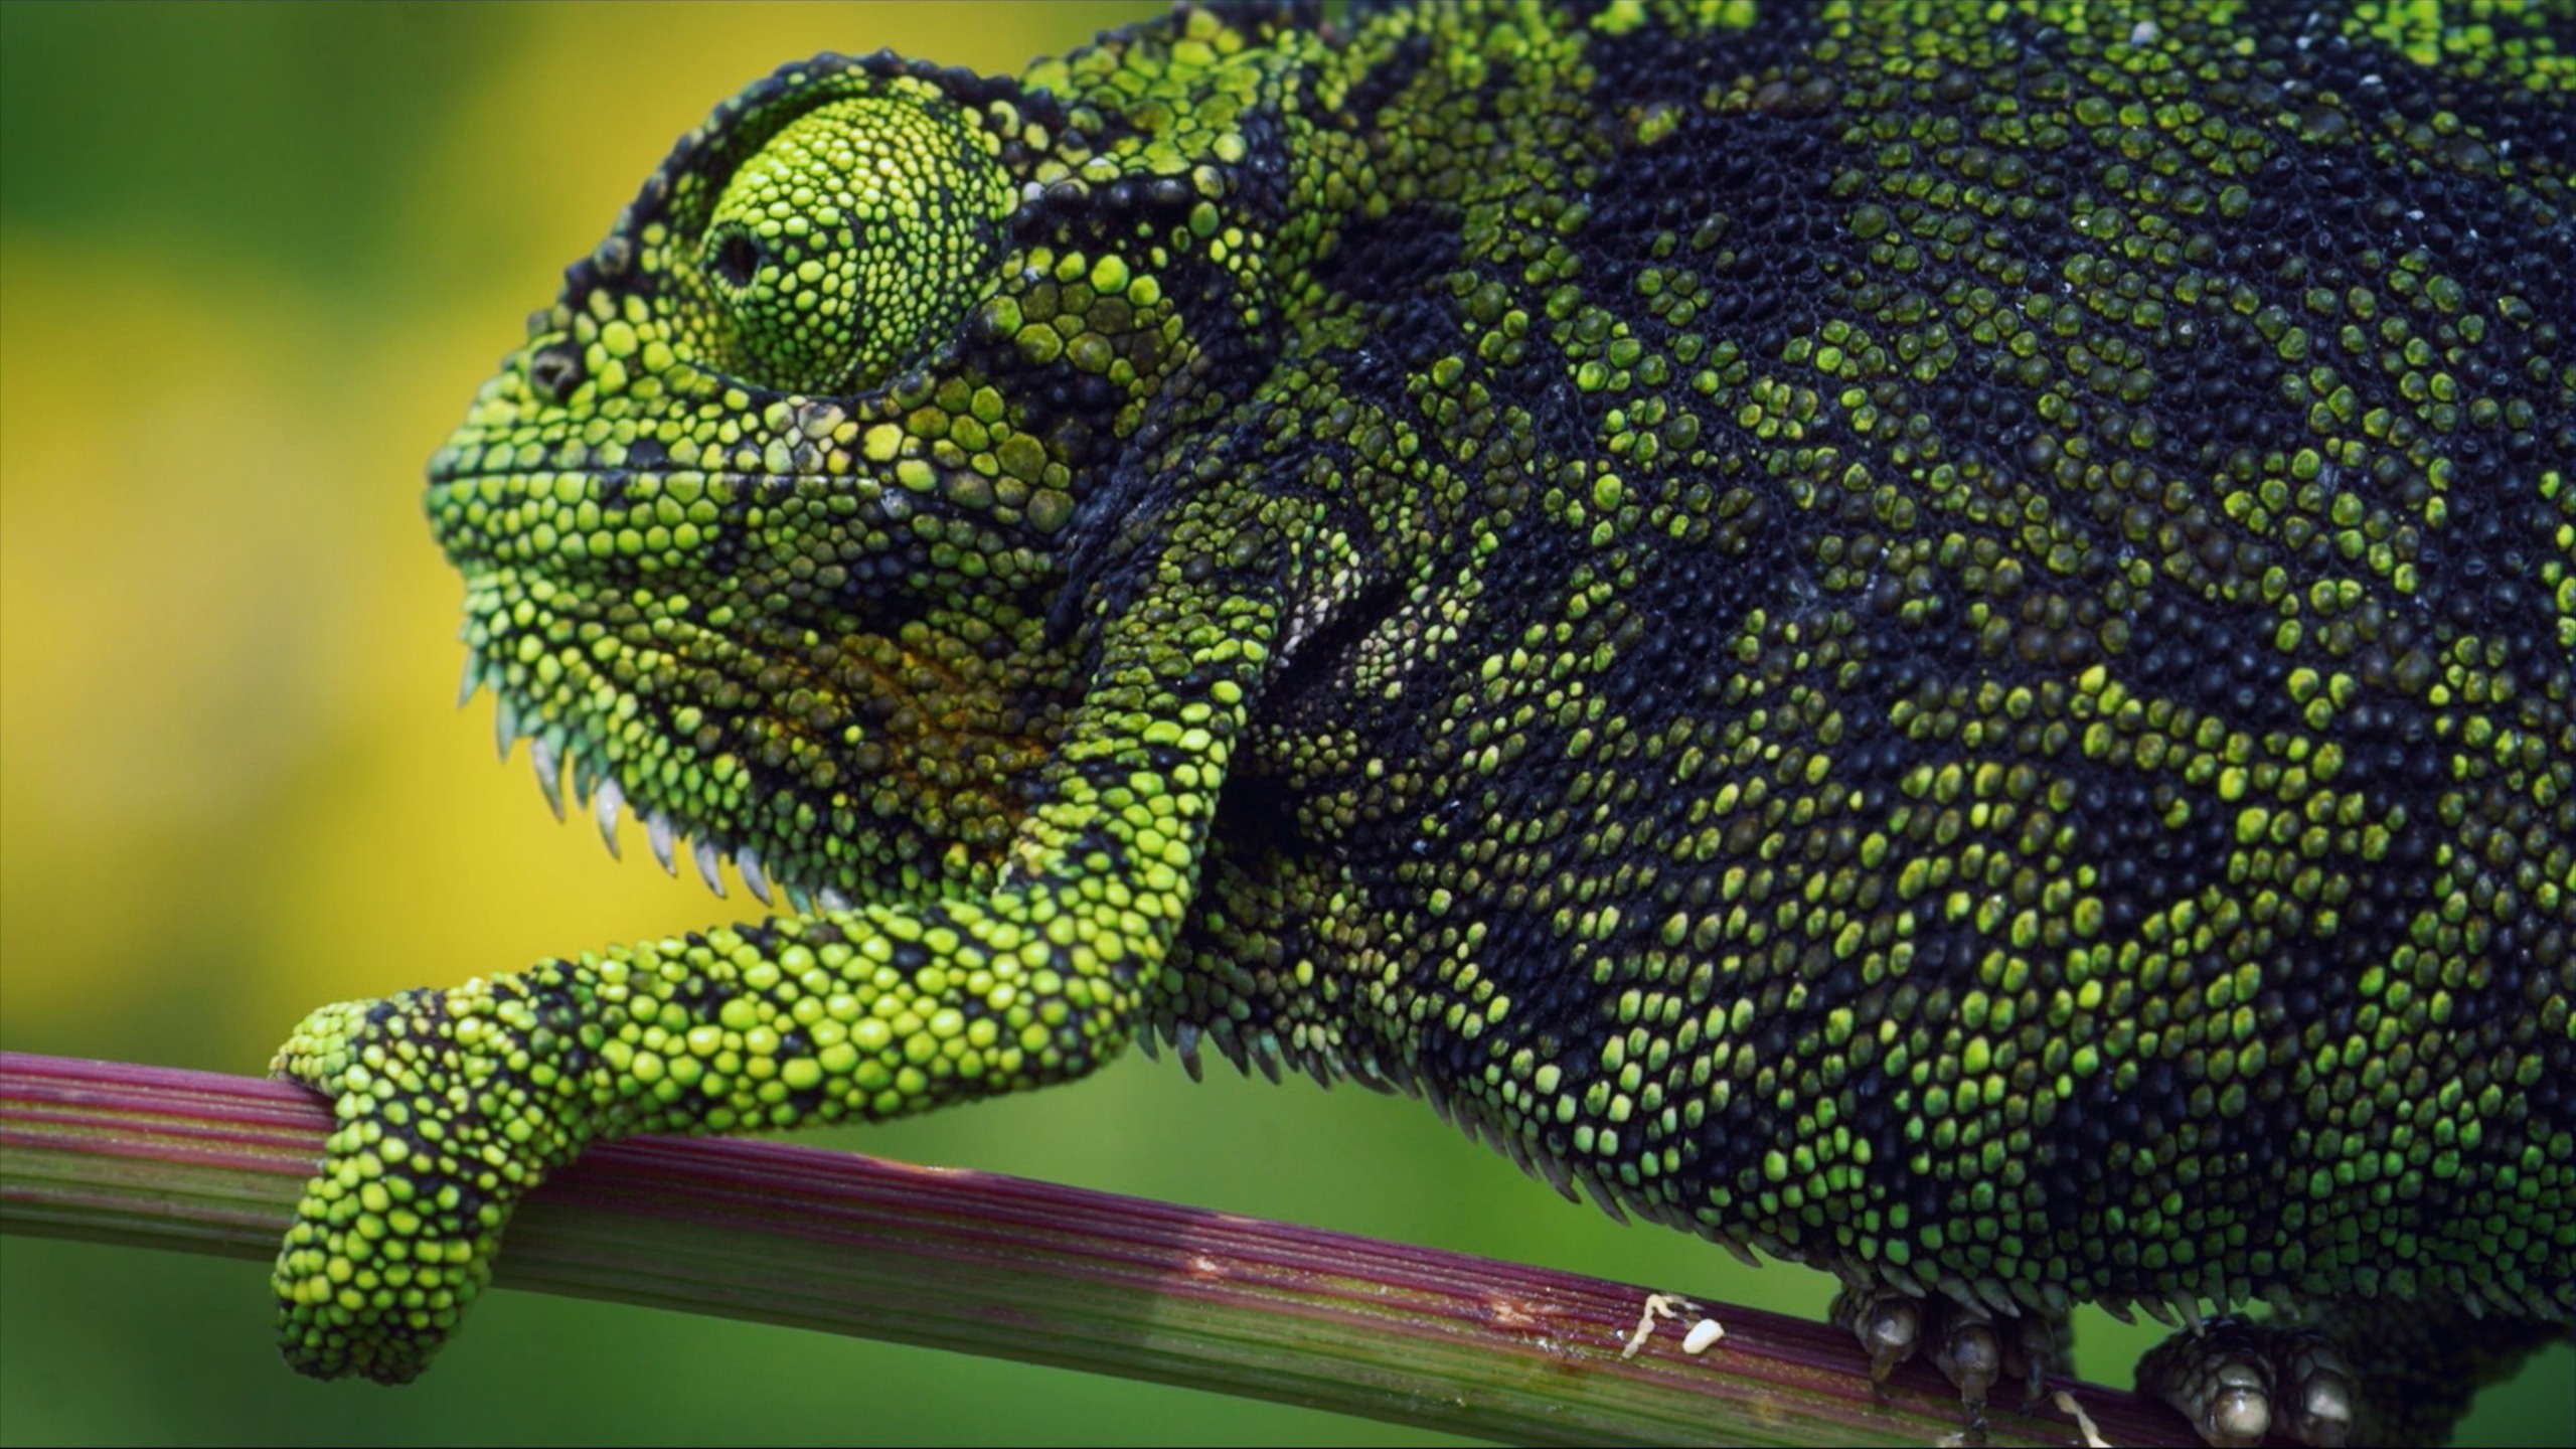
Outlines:
[[744,160],[698,242],[726,371],[866,392],[951,338],[992,286],[1007,183],[912,98],[806,111]]

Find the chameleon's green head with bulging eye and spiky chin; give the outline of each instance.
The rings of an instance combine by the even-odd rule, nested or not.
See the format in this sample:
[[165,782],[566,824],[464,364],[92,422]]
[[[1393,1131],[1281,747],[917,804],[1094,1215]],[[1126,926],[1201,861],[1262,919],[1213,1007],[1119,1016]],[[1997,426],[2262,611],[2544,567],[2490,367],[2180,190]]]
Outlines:
[[430,462],[502,743],[755,884],[989,884],[1074,694],[1079,503],[1190,392],[1164,281],[1242,302],[1193,229],[1231,170],[894,57],[721,106]]

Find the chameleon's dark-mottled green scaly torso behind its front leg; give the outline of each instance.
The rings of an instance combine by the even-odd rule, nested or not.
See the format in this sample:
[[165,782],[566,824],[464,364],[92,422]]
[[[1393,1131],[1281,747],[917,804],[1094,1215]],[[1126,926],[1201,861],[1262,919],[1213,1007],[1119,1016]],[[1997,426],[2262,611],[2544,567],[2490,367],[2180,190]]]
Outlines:
[[1355,562],[1164,1029],[1906,1289],[2563,1323],[2566,62],[2241,21],[1319,62]]

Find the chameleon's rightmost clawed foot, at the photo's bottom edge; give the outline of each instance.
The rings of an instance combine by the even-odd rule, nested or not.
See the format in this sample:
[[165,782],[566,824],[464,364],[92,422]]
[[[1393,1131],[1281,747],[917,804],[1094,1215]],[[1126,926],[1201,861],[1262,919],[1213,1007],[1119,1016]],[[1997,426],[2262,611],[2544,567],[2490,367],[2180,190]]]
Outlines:
[[2262,1444],[2275,1426],[2318,1449],[2352,1441],[2352,1372],[2311,1328],[2213,1318],[2148,1351],[2138,1392],[2174,1405],[2221,1449]]

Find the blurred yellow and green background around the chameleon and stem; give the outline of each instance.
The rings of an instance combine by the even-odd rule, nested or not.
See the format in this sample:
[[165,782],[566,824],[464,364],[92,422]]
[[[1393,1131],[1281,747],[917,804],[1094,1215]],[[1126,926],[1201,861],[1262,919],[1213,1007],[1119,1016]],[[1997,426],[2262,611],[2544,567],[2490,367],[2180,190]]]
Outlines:
[[[675,134],[781,59],[1018,70],[1139,5],[0,5],[0,1044],[258,1073],[309,1006],[734,918],[446,709],[420,464]],[[634,830],[629,830],[634,843]],[[631,851],[641,853],[641,851]],[[832,1140],[832,1137],[827,1137]],[[1419,1104],[1128,1060],[837,1142],[1821,1312]],[[495,1294],[312,1385],[265,1269],[0,1240],[0,1439],[1388,1441],[1311,1410]],[[2084,1372],[2154,1330],[2099,1315]],[[2576,1354],[2465,1441],[2568,1441]],[[1417,1436],[1419,1439],[1419,1436]]]

